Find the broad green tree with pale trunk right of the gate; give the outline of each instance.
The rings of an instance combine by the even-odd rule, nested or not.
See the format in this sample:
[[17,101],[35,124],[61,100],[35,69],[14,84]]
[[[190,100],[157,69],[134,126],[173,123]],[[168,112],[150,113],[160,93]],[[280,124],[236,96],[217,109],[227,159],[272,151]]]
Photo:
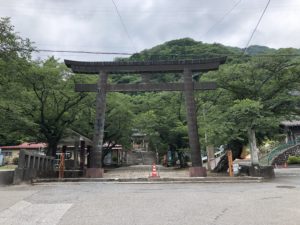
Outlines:
[[254,164],[258,164],[256,133],[261,138],[274,133],[280,120],[291,118],[299,109],[299,96],[291,94],[298,90],[299,60],[291,55],[291,49],[278,50],[267,57],[224,65],[204,76],[215,79],[220,89],[219,94],[204,95],[202,99],[215,104],[212,113],[220,115],[216,121],[228,138],[247,136]]

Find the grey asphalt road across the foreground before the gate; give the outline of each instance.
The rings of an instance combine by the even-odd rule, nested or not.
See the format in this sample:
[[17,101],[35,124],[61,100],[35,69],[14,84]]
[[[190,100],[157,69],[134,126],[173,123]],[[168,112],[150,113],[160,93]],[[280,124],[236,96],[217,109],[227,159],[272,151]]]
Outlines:
[[299,225],[300,176],[232,184],[0,187],[4,225]]

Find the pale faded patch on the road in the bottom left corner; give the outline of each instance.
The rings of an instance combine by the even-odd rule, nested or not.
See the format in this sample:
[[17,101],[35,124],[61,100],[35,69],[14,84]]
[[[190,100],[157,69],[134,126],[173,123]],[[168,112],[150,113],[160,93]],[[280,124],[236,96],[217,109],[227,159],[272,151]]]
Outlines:
[[0,212],[0,224],[56,225],[72,204],[32,204],[19,201]]

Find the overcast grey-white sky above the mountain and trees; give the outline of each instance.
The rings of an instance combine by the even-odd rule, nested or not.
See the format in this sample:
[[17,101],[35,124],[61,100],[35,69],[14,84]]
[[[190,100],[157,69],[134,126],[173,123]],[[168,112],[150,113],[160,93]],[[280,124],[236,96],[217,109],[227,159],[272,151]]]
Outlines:
[[[245,47],[268,0],[114,2],[119,15],[112,0],[0,0],[0,16],[11,17],[15,30],[39,49],[133,53],[184,37]],[[271,0],[254,44],[300,48],[300,1]],[[86,61],[115,57],[55,56]]]

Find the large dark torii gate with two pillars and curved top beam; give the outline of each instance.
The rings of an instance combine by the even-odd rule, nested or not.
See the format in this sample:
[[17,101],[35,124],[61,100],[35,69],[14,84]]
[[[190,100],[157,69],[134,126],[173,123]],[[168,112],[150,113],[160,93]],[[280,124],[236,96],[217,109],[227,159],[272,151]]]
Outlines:
[[[99,74],[97,84],[76,84],[76,92],[97,92],[96,121],[91,151],[90,168],[87,177],[103,177],[101,155],[104,138],[104,122],[107,92],[137,92],[137,91],[183,91],[187,108],[188,137],[191,148],[190,167],[191,177],[206,176],[206,169],[202,166],[200,142],[197,126],[195,90],[216,89],[214,82],[194,82],[193,72],[207,72],[217,70],[220,64],[225,63],[226,57],[201,60],[172,60],[172,61],[146,61],[146,62],[82,62],[65,60],[67,67],[74,73]],[[148,83],[140,84],[109,84],[109,74],[141,74],[143,81],[148,80],[154,73],[183,72],[183,83]]]

